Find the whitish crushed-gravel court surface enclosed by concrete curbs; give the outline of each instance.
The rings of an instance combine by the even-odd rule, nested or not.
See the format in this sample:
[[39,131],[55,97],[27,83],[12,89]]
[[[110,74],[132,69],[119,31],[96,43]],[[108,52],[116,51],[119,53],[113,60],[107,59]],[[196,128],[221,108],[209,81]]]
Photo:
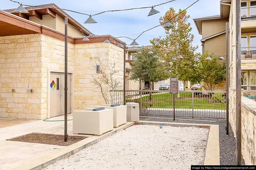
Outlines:
[[203,165],[208,132],[195,127],[133,125],[45,170],[190,169],[190,165]]

